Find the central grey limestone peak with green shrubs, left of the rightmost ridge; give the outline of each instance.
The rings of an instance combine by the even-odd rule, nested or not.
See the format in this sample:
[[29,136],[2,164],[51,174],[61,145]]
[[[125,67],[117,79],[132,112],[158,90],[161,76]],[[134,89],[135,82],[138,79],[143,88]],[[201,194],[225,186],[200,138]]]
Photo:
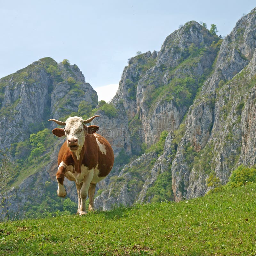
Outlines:
[[[191,21],[168,36],[158,53],[146,52],[129,60],[112,103],[124,104],[128,121],[138,115],[142,123],[140,142],[150,146],[159,140],[162,131],[179,127],[195,97],[199,80],[212,67],[217,54],[211,46],[214,40],[219,39]],[[189,56],[191,61],[184,61]],[[170,91],[176,84],[186,83],[194,89],[184,91],[189,95],[177,92],[180,99],[175,100],[176,92]]]

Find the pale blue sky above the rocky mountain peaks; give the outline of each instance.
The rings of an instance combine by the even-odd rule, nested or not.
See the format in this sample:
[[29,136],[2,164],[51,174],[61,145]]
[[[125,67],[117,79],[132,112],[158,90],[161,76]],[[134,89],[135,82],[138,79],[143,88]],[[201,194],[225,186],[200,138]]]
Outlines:
[[226,36],[252,0],[0,0],[0,78],[44,57],[68,59],[93,88],[118,84],[137,51],[159,51],[187,21]]

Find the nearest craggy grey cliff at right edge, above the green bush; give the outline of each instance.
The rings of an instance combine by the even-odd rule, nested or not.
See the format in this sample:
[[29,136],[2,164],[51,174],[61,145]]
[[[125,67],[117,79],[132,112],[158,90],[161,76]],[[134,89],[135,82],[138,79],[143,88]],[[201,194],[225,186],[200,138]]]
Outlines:
[[[221,44],[214,73],[204,83],[199,99],[189,108],[186,132],[172,165],[172,187],[177,201],[204,195],[210,189],[207,186],[210,175],[225,184],[238,164],[253,162],[245,160],[245,151],[246,136],[253,129],[248,118],[251,111],[254,114],[251,77],[255,74],[255,24],[255,9],[237,22]],[[255,159],[251,142],[248,158]],[[193,159],[187,157],[191,149],[195,151]]]

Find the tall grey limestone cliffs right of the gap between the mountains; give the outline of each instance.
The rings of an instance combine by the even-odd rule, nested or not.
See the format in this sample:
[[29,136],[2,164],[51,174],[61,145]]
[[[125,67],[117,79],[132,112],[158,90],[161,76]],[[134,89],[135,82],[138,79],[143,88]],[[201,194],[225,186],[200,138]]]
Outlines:
[[[106,200],[103,209],[109,209],[110,202],[130,205],[161,198],[159,189],[167,187],[163,173],[173,199],[179,201],[212,189],[209,177],[225,184],[239,164],[255,164],[255,12],[243,16],[224,40],[192,21],[168,36],[157,54],[147,52],[130,59],[112,102],[132,106],[127,115],[140,121],[140,147],[156,143],[164,130],[174,139],[166,138],[164,152],[168,153],[157,160],[143,155],[154,166],[146,179],[138,179],[143,185],[132,198],[129,170],[136,162],[125,167],[118,182],[110,183],[96,198],[101,204]],[[140,64],[144,69],[138,75]],[[136,161],[145,165],[141,157]],[[163,186],[157,187],[159,183]],[[119,188],[116,196],[111,193],[113,187]]]

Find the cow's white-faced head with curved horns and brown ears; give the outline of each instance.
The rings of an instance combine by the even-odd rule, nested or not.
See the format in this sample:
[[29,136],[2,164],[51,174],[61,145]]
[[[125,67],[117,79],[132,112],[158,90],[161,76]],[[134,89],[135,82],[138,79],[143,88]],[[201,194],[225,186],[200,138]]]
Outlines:
[[86,135],[92,134],[98,131],[99,126],[90,125],[86,126],[84,124],[90,123],[92,119],[97,116],[92,116],[87,120],[78,116],[70,116],[66,122],[61,122],[55,119],[49,119],[48,121],[54,121],[59,125],[65,125],[64,129],[55,128],[52,130],[52,133],[58,137],[66,135],[68,148],[71,151],[80,150],[84,145],[84,140]]

